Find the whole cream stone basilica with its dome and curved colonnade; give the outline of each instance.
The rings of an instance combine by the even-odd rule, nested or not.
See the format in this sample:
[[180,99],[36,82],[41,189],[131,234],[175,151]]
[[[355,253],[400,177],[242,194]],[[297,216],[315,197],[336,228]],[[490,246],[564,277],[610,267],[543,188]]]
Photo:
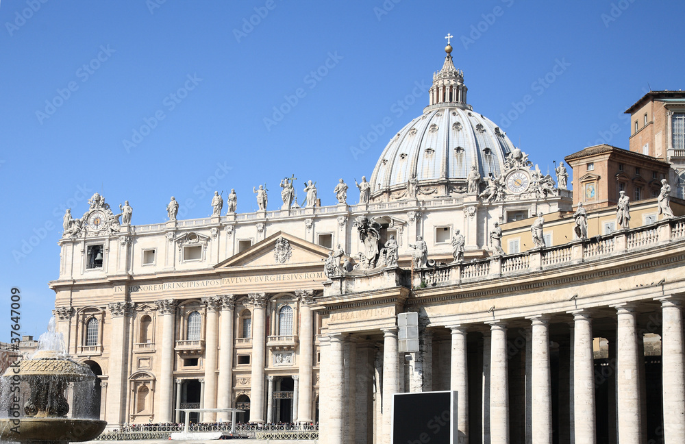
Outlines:
[[[445,51],[423,114],[358,190],[340,180],[337,205],[310,183],[299,208],[286,178],[279,210],[261,189],[259,211],[215,196],[204,219],[177,220],[172,198],[169,220],[132,225],[97,193],[65,214],[57,328],[98,375],[110,428],[240,408],[389,444],[394,393],[453,390],[458,443],[685,442],[685,202],[582,219],[563,165],[543,174],[473,110]],[[572,161],[617,186],[582,170],[601,159]],[[419,351],[399,350],[401,312],[419,314]]]

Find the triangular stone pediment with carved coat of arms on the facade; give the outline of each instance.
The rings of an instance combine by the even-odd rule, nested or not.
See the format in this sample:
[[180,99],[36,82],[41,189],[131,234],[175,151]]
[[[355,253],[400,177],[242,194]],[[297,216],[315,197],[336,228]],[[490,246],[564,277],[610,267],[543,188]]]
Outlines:
[[323,260],[328,257],[329,251],[321,245],[277,232],[245,251],[219,262],[214,268],[273,268],[317,264],[323,269]]

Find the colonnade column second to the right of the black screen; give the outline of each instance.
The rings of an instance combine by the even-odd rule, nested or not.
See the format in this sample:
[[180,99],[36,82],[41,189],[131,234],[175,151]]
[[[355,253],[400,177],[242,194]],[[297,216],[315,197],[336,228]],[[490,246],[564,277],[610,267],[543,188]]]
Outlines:
[[509,443],[509,381],[507,329],[503,322],[490,323],[490,439]]

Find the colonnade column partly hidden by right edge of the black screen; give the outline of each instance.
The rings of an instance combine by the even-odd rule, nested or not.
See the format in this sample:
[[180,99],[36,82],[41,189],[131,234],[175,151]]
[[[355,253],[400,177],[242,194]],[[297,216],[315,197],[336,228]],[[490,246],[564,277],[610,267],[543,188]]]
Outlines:
[[466,328],[456,325],[450,328],[452,351],[449,366],[449,389],[457,391],[458,444],[469,442],[469,381],[467,378]]

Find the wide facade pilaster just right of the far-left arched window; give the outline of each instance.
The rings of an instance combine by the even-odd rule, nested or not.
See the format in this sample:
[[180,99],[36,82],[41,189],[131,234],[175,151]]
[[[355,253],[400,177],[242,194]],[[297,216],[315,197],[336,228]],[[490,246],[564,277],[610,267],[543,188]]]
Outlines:
[[[127,316],[134,308],[133,302],[110,302],[107,308],[112,317],[112,338],[116,338],[110,345],[110,358],[108,360],[108,404],[106,418],[110,425],[121,425],[127,422],[126,406],[127,396],[127,362],[126,347],[128,343]],[[171,387],[170,387],[171,389]]]

